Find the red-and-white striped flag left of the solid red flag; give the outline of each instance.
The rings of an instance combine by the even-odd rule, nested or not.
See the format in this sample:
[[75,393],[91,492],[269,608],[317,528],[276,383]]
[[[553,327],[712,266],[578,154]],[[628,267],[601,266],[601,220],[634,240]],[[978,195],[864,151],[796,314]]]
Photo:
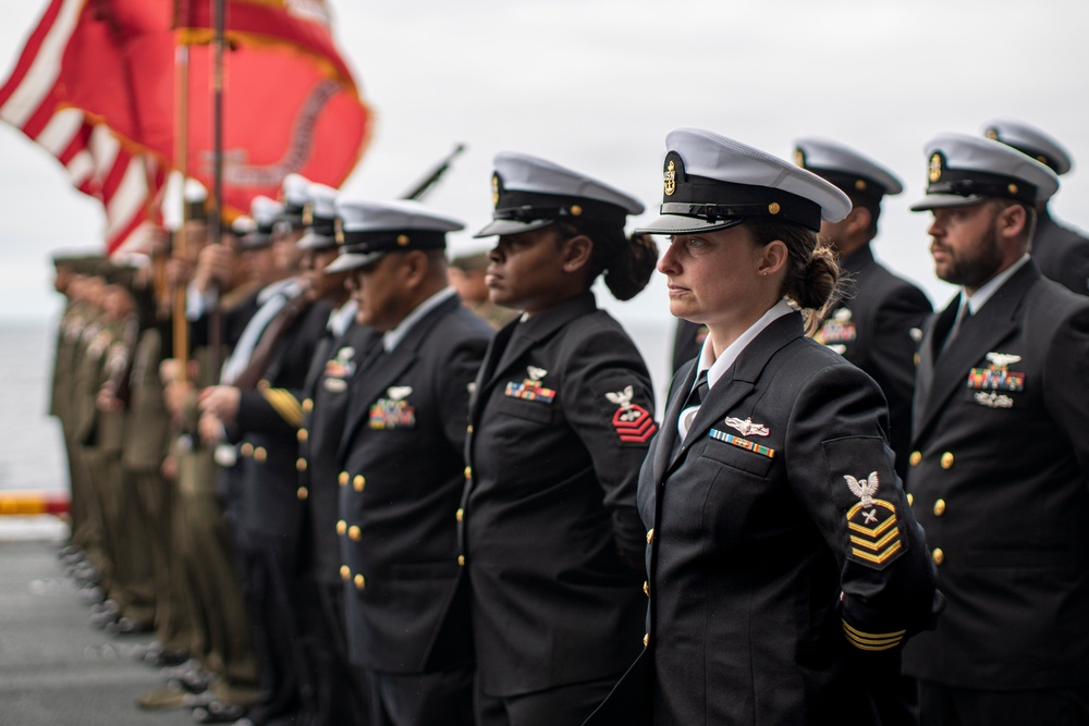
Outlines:
[[[113,254],[142,247],[151,224],[160,222],[157,196],[164,173],[158,160],[72,101],[64,70],[84,5],[83,0],[50,3],[0,88],[0,119],[57,157],[76,188],[102,201],[107,250]],[[115,70],[110,81],[122,82]],[[113,109],[109,115],[132,119],[123,98],[112,98],[105,109]]]

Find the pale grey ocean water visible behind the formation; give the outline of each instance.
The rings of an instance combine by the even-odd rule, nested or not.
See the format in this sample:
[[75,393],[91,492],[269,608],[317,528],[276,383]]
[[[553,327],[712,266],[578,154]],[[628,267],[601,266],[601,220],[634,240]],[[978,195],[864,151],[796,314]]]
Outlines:
[[[670,382],[672,321],[623,321],[650,369],[661,417]],[[54,323],[0,322],[0,490],[68,488],[64,442],[48,415]]]

